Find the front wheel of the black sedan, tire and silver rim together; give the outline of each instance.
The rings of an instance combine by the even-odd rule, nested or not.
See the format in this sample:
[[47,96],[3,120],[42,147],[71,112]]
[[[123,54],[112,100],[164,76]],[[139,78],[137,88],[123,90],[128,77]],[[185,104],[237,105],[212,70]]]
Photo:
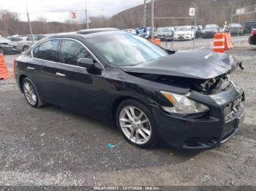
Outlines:
[[[127,111],[133,120],[128,116]],[[153,114],[139,101],[127,99],[121,102],[116,110],[116,124],[124,139],[132,145],[151,148],[157,144],[157,126]]]

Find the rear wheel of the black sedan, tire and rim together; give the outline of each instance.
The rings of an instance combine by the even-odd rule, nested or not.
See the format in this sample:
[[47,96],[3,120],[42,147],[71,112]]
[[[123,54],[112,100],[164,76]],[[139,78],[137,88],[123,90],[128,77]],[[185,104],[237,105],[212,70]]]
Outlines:
[[39,108],[44,105],[44,103],[39,98],[37,88],[34,86],[34,83],[28,77],[23,79],[22,90],[26,98],[26,101],[29,103],[30,106],[34,108]]

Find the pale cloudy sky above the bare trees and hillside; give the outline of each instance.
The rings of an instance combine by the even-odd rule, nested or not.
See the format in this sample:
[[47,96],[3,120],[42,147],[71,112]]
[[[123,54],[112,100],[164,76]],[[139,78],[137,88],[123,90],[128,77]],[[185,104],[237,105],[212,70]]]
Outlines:
[[[30,20],[44,17],[48,21],[64,22],[65,20],[80,21],[85,19],[85,8],[88,17],[110,17],[124,9],[143,4],[143,0],[0,0],[0,9],[17,12],[20,20],[27,20],[26,5]],[[75,12],[75,18],[72,18]],[[74,14],[73,14],[74,15]]]

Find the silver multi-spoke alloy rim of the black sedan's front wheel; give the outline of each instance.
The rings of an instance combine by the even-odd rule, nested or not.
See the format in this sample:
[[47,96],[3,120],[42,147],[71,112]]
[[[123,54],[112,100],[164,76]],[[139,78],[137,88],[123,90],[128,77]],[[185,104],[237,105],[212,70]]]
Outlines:
[[135,106],[125,106],[121,110],[119,124],[124,136],[135,144],[146,144],[151,138],[151,123]]

